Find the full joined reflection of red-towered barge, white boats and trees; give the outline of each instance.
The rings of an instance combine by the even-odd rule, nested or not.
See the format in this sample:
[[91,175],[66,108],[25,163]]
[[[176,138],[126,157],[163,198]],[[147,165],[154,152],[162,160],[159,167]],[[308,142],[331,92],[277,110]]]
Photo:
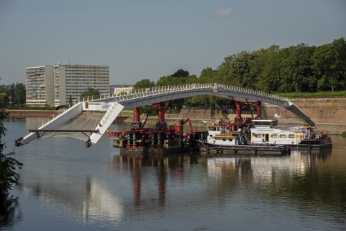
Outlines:
[[[200,205],[214,203],[221,198],[224,200],[226,195],[244,192],[256,197],[284,198],[286,203],[292,205],[297,203],[297,200],[304,201],[300,206],[305,209],[311,207],[311,201],[315,201],[320,208],[327,207],[330,212],[336,207],[338,212],[345,212],[345,207],[340,207],[340,204],[346,204],[346,181],[334,185],[335,179],[332,178],[335,177],[335,169],[324,167],[330,156],[331,149],[319,154],[293,150],[291,156],[283,157],[203,158],[198,154],[177,154],[143,159],[124,155],[113,156],[109,171],[115,175],[130,173],[135,211],[144,208],[158,209],[156,206],[174,206],[167,205],[168,193],[171,195],[168,198],[172,201],[171,186],[179,188],[188,182],[188,178],[194,178],[193,174],[201,174],[196,182],[198,185],[190,181],[188,187],[181,187],[185,195],[194,194],[197,198],[203,198],[204,201],[199,201]],[[194,165],[204,168],[205,171],[192,171]],[[203,185],[201,180],[204,173],[207,174],[206,185]],[[148,196],[145,191],[148,187],[152,196]],[[179,196],[174,196],[174,200],[178,200]],[[332,207],[329,207],[330,205]]]

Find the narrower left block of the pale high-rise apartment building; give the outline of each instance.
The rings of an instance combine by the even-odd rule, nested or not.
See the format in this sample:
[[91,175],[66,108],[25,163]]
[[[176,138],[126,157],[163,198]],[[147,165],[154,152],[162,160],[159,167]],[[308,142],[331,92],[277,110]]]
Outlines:
[[29,107],[54,106],[53,66],[34,66],[26,69],[26,104]]

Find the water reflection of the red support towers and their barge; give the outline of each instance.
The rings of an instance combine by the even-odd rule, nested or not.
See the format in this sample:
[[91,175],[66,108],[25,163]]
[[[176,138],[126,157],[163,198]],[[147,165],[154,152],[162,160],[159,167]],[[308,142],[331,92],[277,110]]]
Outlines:
[[[149,201],[152,205],[157,202],[158,206],[165,206],[167,177],[172,177],[174,183],[183,183],[184,168],[189,168],[190,165],[197,164],[199,155],[190,154],[170,154],[167,156],[149,156],[149,158],[142,158],[138,155],[120,155],[113,156],[109,163],[109,170],[115,175],[122,175],[124,172],[131,172],[133,181],[133,196],[134,207],[139,208],[143,203],[147,203],[147,186],[150,187],[150,194],[155,194],[154,198]],[[151,174],[151,175],[150,175]],[[148,177],[150,183],[147,183]],[[154,179],[155,178],[155,179]],[[153,183],[153,180],[156,183]],[[143,183],[145,182],[145,183]],[[152,186],[156,187],[154,190]]]

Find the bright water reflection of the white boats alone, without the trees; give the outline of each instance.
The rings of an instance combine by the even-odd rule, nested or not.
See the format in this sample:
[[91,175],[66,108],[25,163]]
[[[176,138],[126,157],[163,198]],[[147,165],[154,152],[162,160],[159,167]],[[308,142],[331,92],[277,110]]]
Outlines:
[[311,167],[323,164],[330,155],[331,149],[321,151],[320,154],[293,150],[291,156],[208,158],[208,174],[216,181],[233,174],[237,181],[243,183],[280,183],[290,176],[305,176]]

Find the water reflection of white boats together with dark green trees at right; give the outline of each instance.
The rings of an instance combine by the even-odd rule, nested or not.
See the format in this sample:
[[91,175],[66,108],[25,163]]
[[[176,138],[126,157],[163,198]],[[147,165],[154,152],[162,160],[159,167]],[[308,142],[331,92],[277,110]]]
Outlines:
[[331,149],[320,153],[294,150],[286,157],[209,158],[208,176],[226,192],[247,190],[268,201],[284,198],[289,205],[300,201],[298,207],[304,212],[313,208],[327,216],[345,214],[345,170],[332,168],[330,157]]

